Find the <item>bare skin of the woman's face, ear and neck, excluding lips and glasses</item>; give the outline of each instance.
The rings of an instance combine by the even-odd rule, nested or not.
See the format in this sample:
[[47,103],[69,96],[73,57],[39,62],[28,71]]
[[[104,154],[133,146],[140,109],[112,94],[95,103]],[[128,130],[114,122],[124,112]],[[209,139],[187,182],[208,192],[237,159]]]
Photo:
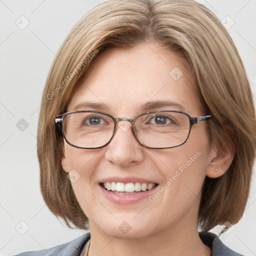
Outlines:
[[[174,67],[182,71],[177,80],[169,75]],[[159,44],[140,43],[98,54],[72,94],[67,111],[83,101],[103,102],[104,109],[79,110],[133,118],[142,113],[140,104],[152,100],[173,100],[191,116],[205,115],[185,63]],[[165,106],[146,111],[150,110],[179,109]],[[201,187],[206,175],[222,175],[232,159],[209,143],[205,122],[192,126],[183,145],[167,149],[140,145],[130,128],[118,128],[111,142],[99,149],[79,149],[64,142],[63,169],[75,169],[80,175],[71,185],[89,219],[89,256],[210,255],[211,249],[197,231]],[[128,205],[114,203],[98,187],[99,180],[109,176],[147,178],[162,186],[197,151],[200,156],[154,202],[145,198]],[[130,226],[125,234],[118,228],[123,221]]]

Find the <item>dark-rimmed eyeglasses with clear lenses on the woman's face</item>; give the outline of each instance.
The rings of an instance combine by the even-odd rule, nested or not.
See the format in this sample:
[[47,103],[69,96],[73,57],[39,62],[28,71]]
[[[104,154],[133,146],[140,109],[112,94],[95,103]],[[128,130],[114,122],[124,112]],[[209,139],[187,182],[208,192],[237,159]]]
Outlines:
[[[121,125],[125,126],[118,122],[127,121],[142,146],[163,149],[184,144],[191,126],[209,118],[210,115],[191,117],[182,111],[158,110],[127,119],[104,112],[82,110],[58,115],[55,123],[61,126],[65,141],[77,148],[95,149],[106,146],[113,138],[117,126],[121,129]],[[127,125],[123,130],[127,130]]]

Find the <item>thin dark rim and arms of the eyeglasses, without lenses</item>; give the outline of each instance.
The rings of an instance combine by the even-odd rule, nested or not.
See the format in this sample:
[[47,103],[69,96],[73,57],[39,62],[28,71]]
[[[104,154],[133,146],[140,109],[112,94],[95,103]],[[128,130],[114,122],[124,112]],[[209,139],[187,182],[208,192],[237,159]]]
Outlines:
[[[66,136],[65,136],[65,133],[64,133],[64,130],[63,130],[63,122],[64,122],[64,119],[67,115],[69,114],[72,114],[72,113],[81,113],[81,112],[92,112],[92,113],[100,113],[100,114],[104,114],[104,115],[107,115],[108,117],[110,117],[113,122],[114,122],[114,128],[113,128],[113,133],[112,133],[112,136],[111,138],[109,139],[109,141],[107,143],[105,143],[104,145],[102,146],[97,146],[97,147],[82,147],[82,146],[76,146],[72,143],[70,143]],[[176,112],[176,113],[182,113],[182,114],[185,114],[188,119],[189,119],[189,131],[188,131],[188,134],[187,134],[187,137],[186,139],[178,144],[178,145],[174,145],[174,146],[167,146],[167,147],[151,147],[151,146],[146,146],[144,145],[141,141],[139,141],[138,137],[136,136],[136,133],[134,131],[134,122],[136,121],[137,118],[139,118],[140,116],[142,115],[145,115],[145,114],[150,114],[150,113],[157,113],[157,112]],[[151,112],[146,112],[146,113],[142,113],[142,114],[139,114],[137,116],[135,116],[134,118],[121,118],[121,117],[113,117],[112,115],[108,114],[108,113],[105,113],[105,112],[101,112],[101,111],[96,111],[96,110],[78,110],[78,111],[69,111],[69,112],[66,112],[66,113],[63,113],[63,114],[60,114],[60,115],[57,115],[54,120],[55,120],[55,123],[60,125],[61,126],[61,132],[62,132],[62,135],[65,139],[65,141],[67,142],[67,144],[73,146],[73,147],[76,147],[76,148],[81,148],[81,149],[98,149],[98,148],[102,148],[104,146],[106,146],[107,144],[110,143],[110,141],[113,139],[115,133],[116,133],[116,126],[118,124],[119,121],[128,121],[131,123],[131,130],[132,130],[132,133],[134,135],[134,137],[136,138],[136,140],[139,142],[140,145],[144,146],[144,147],[147,147],[147,148],[151,148],[151,149],[165,149],[165,148],[172,148],[172,147],[176,147],[176,146],[180,146],[180,145],[183,145],[188,137],[189,137],[189,134],[190,134],[190,131],[191,131],[191,127],[196,124],[196,123],[199,123],[201,121],[205,121],[205,120],[208,120],[209,118],[211,117],[211,115],[204,115],[204,116],[196,116],[196,117],[192,117],[190,114],[186,113],[186,112],[183,112],[183,111],[179,111],[179,110],[156,110],[156,111],[151,111]]]

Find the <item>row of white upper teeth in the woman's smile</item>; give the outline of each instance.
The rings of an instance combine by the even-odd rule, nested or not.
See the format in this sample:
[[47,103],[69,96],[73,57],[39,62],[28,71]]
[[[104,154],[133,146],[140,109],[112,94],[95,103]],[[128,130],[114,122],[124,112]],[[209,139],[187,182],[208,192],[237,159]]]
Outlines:
[[134,192],[134,191],[146,191],[155,186],[154,183],[122,183],[122,182],[105,182],[103,183],[107,190],[117,191],[117,192]]

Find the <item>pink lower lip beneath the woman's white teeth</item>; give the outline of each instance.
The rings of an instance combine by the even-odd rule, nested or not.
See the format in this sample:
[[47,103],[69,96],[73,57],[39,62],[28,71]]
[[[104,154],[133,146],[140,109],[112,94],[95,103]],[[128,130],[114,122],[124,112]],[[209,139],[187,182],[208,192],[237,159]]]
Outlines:
[[110,192],[110,191],[104,189],[100,184],[98,184],[98,185],[99,185],[102,193],[104,194],[104,196],[109,201],[121,203],[121,204],[131,204],[131,203],[135,203],[141,199],[144,199],[146,197],[149,197],[152,193],[154,193],[154,191],[158,187],[158,185],[157,185],[150,190],[136,192],[134,194],[118,194],[118,193]]

